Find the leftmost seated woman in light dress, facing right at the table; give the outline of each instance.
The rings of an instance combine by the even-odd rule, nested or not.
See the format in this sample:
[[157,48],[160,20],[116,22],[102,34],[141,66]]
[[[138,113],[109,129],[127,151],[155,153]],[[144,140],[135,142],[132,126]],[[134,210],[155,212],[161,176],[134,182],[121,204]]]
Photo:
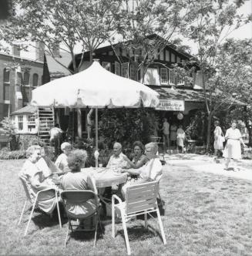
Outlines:
[[[35,200],[35,195],[39,190],[56,188],[51,179],[46,179],[43,171],[39,170],[36,163],[41,158],[41,147],[34,145],[26,150],[27,160],[25,161],[22,170],[18,174],[22,180],[25,180],[26,187],[29,190],[30,197]],[[55,192],[52,190],[45,191],[40,197],[38,206],[45,213],[51,214],[55,208]]]

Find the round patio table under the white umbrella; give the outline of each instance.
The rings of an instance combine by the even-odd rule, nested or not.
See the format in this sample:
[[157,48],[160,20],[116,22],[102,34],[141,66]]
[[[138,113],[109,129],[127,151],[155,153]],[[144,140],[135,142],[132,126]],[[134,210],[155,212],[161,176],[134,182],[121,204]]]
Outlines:
[[123,184],[127,180],[127,173],[119,173],[115,169],[106,167],[82,168],[82,172],[89,172],[95,178],[97,188],[112,187]]

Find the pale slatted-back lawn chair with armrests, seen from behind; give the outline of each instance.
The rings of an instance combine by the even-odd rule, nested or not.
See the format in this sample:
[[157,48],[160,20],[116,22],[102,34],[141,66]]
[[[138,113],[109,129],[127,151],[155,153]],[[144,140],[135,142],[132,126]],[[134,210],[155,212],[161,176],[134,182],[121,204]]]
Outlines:
[[[115,237],[115,211],[119,210],[122,217],[128,255],[131,254],[131,251],[129,247],[129,237],[127,233],[126,219],[130,217],[144,214],[145,228],[147,228],[147,214],[149,214],[150,217],[153,217],[150,213],[156,212],[160,224],[163,244],[166,244],[166,237],[163,231],[160,211],[156,203],[158,187],[158,181],[129,186],[126,188],[125,202],[123,202],[115,194],[112,197],[112,237]],[[119,204],[115,204],[115,200],[118,200]]]

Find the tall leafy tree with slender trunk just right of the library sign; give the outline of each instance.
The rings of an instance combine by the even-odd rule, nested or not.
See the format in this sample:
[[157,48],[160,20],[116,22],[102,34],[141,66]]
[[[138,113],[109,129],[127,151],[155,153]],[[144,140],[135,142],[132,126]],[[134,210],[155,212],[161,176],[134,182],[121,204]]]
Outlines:
[[229,107],[234,103],[230,97],[230,93],[234,92],[234,83],[233,86],[228,86],[230,79],[227,72],[223,72],[225,64],[220,66],[220,61],[224,53],[222,44],[227,36],[252,20],[252,15],[248,17],[238,15],[238,8],[243,4],[244,1],[195,0],[193,5],[190,5],[189,15],[186,16],[187,24],[190,25],[180,29],[187,39],[197,45],[197,59],[194,63],[202,73],[208,117],[207,150],[210,148],[210,128],[214,113],[217,109]]

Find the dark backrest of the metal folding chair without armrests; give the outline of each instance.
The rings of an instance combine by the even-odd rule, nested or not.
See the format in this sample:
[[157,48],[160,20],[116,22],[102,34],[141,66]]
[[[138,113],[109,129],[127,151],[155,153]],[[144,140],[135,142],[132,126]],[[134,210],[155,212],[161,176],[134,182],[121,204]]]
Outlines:
[[65,203],[77,205],[90,199],[96,199],[97,195],[92,190],[64,190],[60,196]]

